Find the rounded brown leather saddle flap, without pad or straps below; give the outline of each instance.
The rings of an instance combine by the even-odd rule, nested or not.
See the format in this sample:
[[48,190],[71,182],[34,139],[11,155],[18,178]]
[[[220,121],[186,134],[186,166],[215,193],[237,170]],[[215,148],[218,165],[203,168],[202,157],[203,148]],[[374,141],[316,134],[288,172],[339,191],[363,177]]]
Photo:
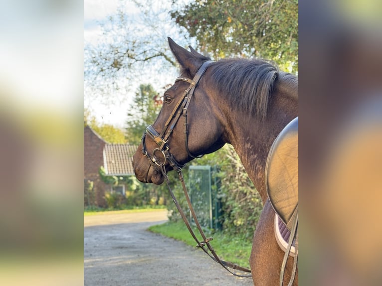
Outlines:
[[265,185],[273,209],[291,230],[298,204],[298,117],[280,132],[271,146]]

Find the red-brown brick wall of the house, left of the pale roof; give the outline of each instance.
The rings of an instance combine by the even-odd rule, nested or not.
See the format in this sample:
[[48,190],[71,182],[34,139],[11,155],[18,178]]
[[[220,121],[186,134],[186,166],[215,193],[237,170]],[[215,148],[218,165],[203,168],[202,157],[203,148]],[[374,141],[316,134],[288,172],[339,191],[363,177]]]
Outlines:
[[98,173],[100,166],[104,164],[103,148],[106,142],[96,134],[89,126],[84,127],[84,180],[94,182],[95,203],[105,207],[105,191],[110,186],[106,185]]

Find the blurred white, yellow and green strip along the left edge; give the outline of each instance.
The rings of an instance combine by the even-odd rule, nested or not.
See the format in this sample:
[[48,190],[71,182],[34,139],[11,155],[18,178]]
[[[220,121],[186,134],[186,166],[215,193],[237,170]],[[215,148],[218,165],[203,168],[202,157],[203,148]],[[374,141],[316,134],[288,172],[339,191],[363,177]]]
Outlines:
[[83,2],[0,3],[0,285],[83,284]]

